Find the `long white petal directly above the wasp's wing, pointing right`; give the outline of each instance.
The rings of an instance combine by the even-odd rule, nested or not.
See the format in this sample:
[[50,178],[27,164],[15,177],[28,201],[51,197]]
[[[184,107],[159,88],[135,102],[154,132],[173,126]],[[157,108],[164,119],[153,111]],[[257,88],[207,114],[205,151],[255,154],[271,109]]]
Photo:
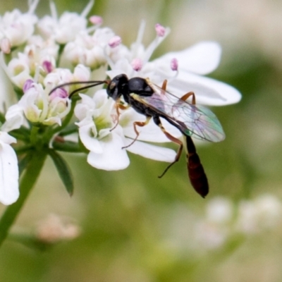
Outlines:
[[209,106],[234,104],[241,99],[240,92],[231,85],[188,73],[179,73],[176,79],[168,82],[168,91],[178,97],[190,91],[195,92],[197,104]]

